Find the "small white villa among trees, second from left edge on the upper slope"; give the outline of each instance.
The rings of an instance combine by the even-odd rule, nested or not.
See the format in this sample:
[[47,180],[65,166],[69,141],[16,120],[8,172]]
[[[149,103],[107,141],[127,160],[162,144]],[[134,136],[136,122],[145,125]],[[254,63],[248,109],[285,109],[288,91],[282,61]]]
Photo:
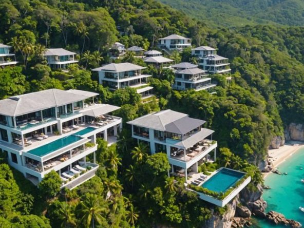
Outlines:
[[67,69],[69,64],[78,63],[75,60],[75,54],[63,48],[48,48],[44,55],[46,56],[47,64],[52,69]]

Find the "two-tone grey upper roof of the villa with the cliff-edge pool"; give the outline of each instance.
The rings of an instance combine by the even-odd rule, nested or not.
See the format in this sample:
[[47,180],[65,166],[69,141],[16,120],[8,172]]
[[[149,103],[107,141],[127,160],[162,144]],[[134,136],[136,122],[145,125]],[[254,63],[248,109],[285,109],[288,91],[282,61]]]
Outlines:
[[127,123],[183,135],[201,126],[205,121],[189,118],[188,115],[184,113],[167,109],[148,114]]

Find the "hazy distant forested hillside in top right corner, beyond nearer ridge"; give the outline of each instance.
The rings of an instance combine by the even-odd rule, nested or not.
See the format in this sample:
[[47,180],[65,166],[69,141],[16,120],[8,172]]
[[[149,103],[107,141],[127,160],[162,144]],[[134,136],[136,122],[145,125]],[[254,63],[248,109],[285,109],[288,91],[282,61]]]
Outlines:
[[302,0],[159,0],[187,15],[221,26],[304,24]]

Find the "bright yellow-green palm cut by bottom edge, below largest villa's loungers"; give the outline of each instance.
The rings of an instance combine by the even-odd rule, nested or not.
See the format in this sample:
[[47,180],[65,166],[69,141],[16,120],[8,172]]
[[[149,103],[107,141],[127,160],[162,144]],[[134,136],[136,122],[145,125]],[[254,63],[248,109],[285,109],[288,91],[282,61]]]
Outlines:
[[106,209],[100,204],[100,198],[94,194],[87,194],[85,200],[81,202],[81,220],[85,226],[95,227],[95,223],[101,224],[104,217],[101,213]]

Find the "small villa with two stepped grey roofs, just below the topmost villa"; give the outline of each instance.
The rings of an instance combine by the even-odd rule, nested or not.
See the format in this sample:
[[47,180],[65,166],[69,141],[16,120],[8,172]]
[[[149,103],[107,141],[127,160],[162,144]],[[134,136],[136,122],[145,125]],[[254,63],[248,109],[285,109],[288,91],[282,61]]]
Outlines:
[[162,56],[162,53],[160,51],[156,50],[146,51],[145,56],[146,57],[144,58],[144,62],[153,65],[158,69],[170,68],[171,65],[174,63],[174,60],[165,58],[164,56]]

